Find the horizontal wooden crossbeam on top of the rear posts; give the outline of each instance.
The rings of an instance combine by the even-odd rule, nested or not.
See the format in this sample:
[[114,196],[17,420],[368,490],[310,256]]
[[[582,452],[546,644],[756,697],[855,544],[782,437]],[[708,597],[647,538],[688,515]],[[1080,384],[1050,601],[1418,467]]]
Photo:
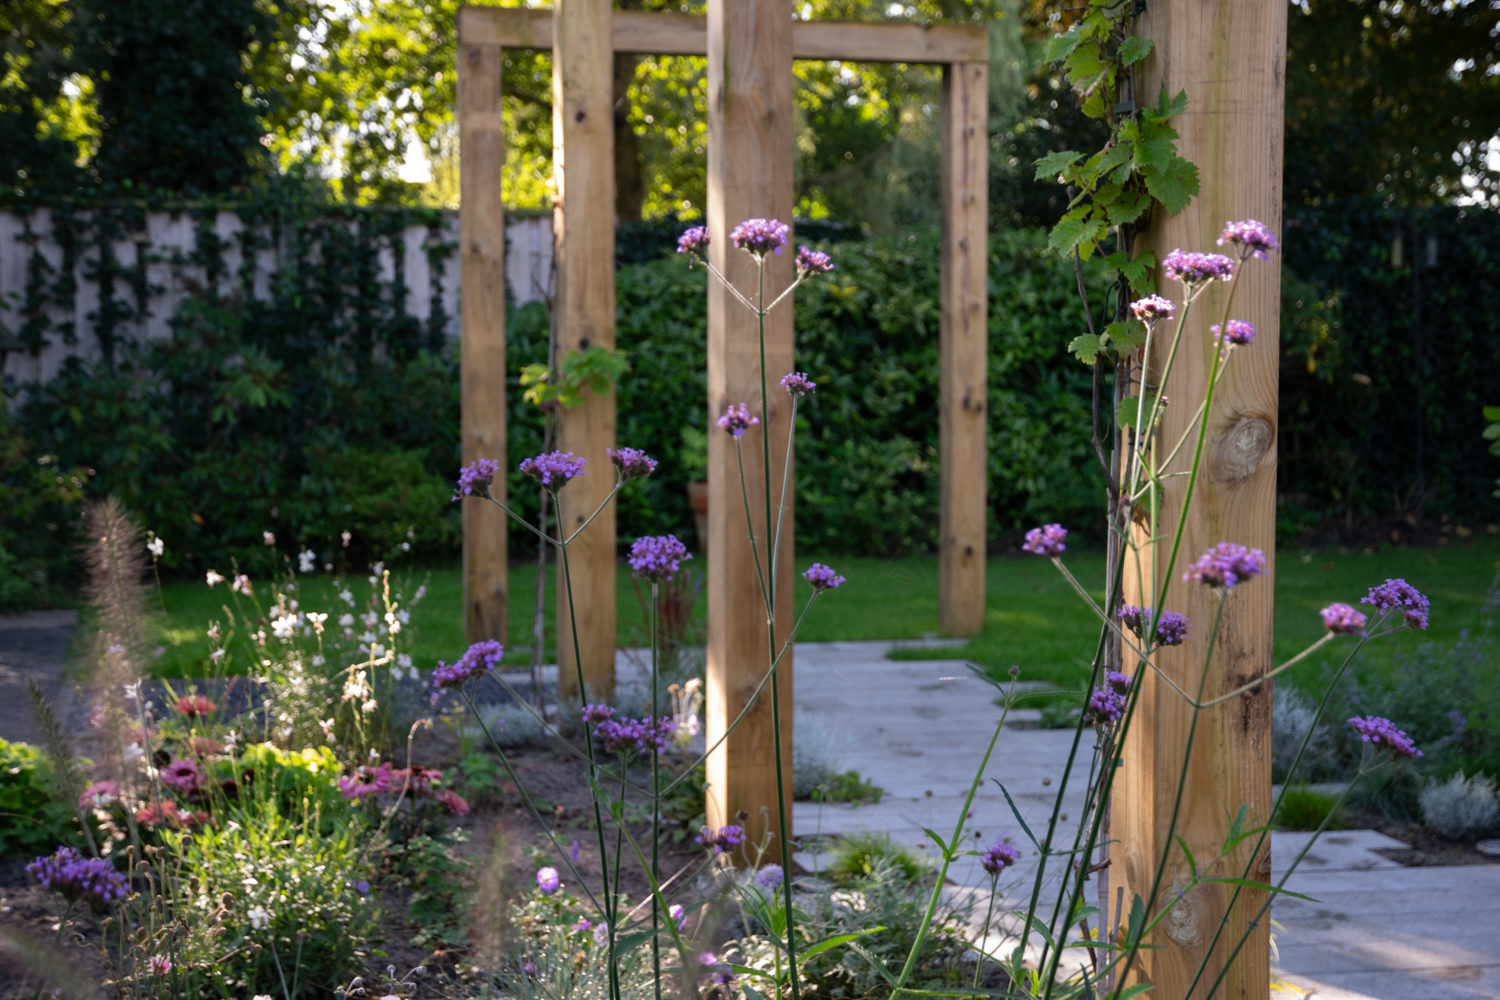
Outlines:
[[[708,18],[690,13],[615,10],[616,52],[708,55]],[[552,48],[552,10],[460,7],[459,36],[476,45]],[[850,63],[987,63],[990,34],[968,24],[882,24],[870,21],[794,21],[792,58]]]

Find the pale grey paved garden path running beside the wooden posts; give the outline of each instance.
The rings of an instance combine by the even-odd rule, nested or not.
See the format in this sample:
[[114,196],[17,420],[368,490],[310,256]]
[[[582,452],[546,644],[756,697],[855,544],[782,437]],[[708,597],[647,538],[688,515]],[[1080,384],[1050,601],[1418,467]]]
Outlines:
[[[796,703],[837,720],[848,735],[844,768],[886,790],[878,805],[818,807],[798,802],[798,837],[858,829],[886,831],[928,850],[928,826],[952,834],[963,798],[999,708],[994,688],[974,678],[960,660],[892,661],[890,643],[798,643]],[[1071,730],[1000,733],[970,825],[993,843],[1004,831],[1024,846],[1024,835],[996,783],[1016,799],[1034,831],[1046,828],[1058,778],[1066,765]],[[1084,765],[1086,766],[1086,765]],[[1060,814],[1076,820],[1086,774],[1076,771]],[[1050,784],[1044,784],[1050,780]],[[1072,834],[1072,825],[1064,825]],[[1040,837],[1040,832],[1038,832]],[[1306,843],[1306,834],[1276,834],[1276,876]],[[1324,835],[1287,888],[1317,903],[1281,900],[1272,916],[1280,961],[1278,996],[1316,994],[1324,1000],[1500,1000],[1500,865],[1406,868],[1376,855],[1404,847],[1374,831]],[[800,856],[812,868],[812,856]],[[1024,907],[1029,871],[1002,883],[998,910]],[[987,880],[974,858],[950,871],[956,892],[984,892]],[[980,897],[987,900],[987,897]],[[980,913],[982,918],[984,906]],[[999,937],[992,942],[1000,945]]]

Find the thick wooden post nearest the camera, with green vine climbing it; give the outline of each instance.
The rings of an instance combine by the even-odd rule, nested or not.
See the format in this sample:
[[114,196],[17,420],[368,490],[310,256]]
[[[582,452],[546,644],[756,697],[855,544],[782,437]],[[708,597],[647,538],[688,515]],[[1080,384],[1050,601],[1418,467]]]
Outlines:
[[[1216,250],[1214,243],[1232,219],[1252,217],[1281,229],[1286,24],[1286,6],[1263,0],[1222,0],[1215,4],[1162,0],[1146,9],[1140,33],[1155,40],[1156,54],[1146,67],[1138,93],[1154,100],[1162,85],[1168,93],[1186,90],[1188,112],[1173,124],[1182,133],[1182,156],[1197,163],[1203,186],[1182,214],[1155,220],[1148,246],[1156,252],[1158,261],[1174,247]],[[1140,538],[1146,544],[1138,564],[1142,579],[1149,582],[1167,576],[1166,607],[1192,619],[1192,639],[1164,651],[1160,658],[1162,669],[1186,691],[1197,691],[1203,676],[1203,655],[1218,600],[1208,588],[1180,579],[1185,564],[1220,541],[1262,549],[1272,570],[1275,559],[1280,255],[1263,262],[1250,261],[1244,268],[1232,318],[1254,322],[1258,333],[1252,346],[1234,351],[1215,393],[1204,462],[1178,564],[1166,565],[1172,538],[1161,538],[1156,546],[1150,546],[1149,538]],[[1158,280],[1164,279],[1158,276]],[[1180,286],[1170,291],[1180,294]],[[1209,325],[1221,321],[1227,291],[1227,285],[1215,283],[1192,307],[1184,345],[1164,390],[1173,406],[1161,429],[1162,441],[1178,441],[1192,420],[1196,400],[1203,399],[1215,349]],[[1160,366],[1162,358],[1152,361]],[[1170,471],[1185,472],[1191,466],[1191,447],[1184,448],[1184,456]],[[1174,523],[1185,489],[1186,477],[1168,480],[1161,523]],[[1125,598],[1144,604],[1149,598],[1140,594],[1136,570],[1137,565],[1128,561]],[[1232,591],[1218,646],[1206,667],[1209,697],[1270,669],[1274,592],[1274,573]],[[1184,699],[1148,675],[1125,745],[1113,810],[1114,834],[1122,841],[1114,853],[1125,862],[1124,871],[1119,864],[1113,871],[1125,879],[1126,906],[1130,894],[1149,892],[1162,852],[1168,847],[1167,826],[1184,771],[1191,720],[1192,709]],[[1270,819],[1270,684],[1203,712],[1182,801],[1176,832],[1200,862],[1218,853],[1242,805],[1250,810],[1251,825]],[[1254,862],[1252,877],[1269,880],[1269,850],[1252,859],[1252,847],[1254,838],[1212,874],[1239,877],[1245,865]],[[1186,885],[1182,852],[1173,847],[1167,858],[1158,904]],[[1228,915],[1220,948],[1208,954],[1232,892],[1222,885],[1192,889],[1154,936],[1156,948],[1142,952],[1136,979],[1155,984],[1160,996],[1186,997],[1194,970],[1208,957],[1209,973],[1194,993],[1204,997],[1230,948],[1246,931],[1246,921],[1266,900],[1263,891],[1242,894]],[[1262,919],[1250,931],[1246,946],[1228,970],[1218,997],[1264,1000],[1270,978],[1268,924]]]

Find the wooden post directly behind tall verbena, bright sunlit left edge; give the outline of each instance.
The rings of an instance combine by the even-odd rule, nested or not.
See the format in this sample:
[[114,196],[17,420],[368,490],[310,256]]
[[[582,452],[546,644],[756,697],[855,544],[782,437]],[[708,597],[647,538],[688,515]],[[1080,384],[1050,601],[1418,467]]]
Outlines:
[[[792,0],[710,0],[708,4],[708,228],[710,259],[747,295],[754,295],[754,262],[729,244],[729,231],[744,219],[792,219]],[[766,262],[766,298],[794,276],[790,250]],[[750,523],[765,544],[765,487],[760,435],[771,435],[772,481],[786,459],[790,399],[777,385],[792,370],[792,309],[771,313],[765,330],[768,414],[759,412],[760,357],[756,319],[708,282],[708,415],[748,403],[762,423],[740,441],[750,487]],[[712,423],[710,423],[712,427]],[[788,492],[788,504],[792,492]],[[706,736],[717,741],[765,676],[768,637],[765,604],[756,582],[740,493],[735,442],[712,427],[708,438],[708,697]],[[778,636],[792,621],[794,519],[788,511],[777,574]],[[764,553],[762,547],[762,553]],[[778,667],[782,747],[790,820],[792,658]],[[768,814],[762,816],[760,810]],[[708,759],[708,822],[738,822],[748,813],[752,841],[777,829],[776,768],[770,688],[729,739]],[[772,853],[780,844],[772,846]]]

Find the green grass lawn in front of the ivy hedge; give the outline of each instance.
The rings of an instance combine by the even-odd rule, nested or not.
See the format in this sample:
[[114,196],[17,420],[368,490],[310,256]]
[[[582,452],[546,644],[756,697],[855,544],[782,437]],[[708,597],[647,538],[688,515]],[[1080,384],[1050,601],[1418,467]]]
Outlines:
[[[800,561],[801,570],[810,559]],[[938,559],[832,559],[849,583],[818,601],[800,633],[810,642],[846,639],[921,639],[938,628]],[[1068,553],[1070,570],[1096,595],[1104,588],[1104,556],[1100,552]],[[702,562],[690,564],[702,570]],[[1460,631],[1479,624],[1485,592],[1500,565],[1500,538],[1478,535],[1440,549],[1384,549],[1372,555],[1282,550],[1276,559],[1276,660],[1292,657],[1322,634],[1318,609],[1330,601],[1350,604],[1386,577],[1406,577],[1432,601],[1432,627],[1425,636],[1398,633],[1374,643],[1364,670],[1389,670],[1394,654],[1420,642],[1452,645]],[[393,589],[410,597],[426,583],[424,600],[412,609],[414,658],[428,669],[440,658],[453,660],[464,651],[462,580],[456,565],[400,570]],[[363,604],[369,594],[364,577],[350,580]],[[531,639],[536,567],[516,565],[510,573],[510,646],[513,661],[526,660]],[[344,610],[336,601],[332,577],[304,577],[304,610]],[[264,586],[262,586],[264,589]],[[1077,682],[1088,669],[1098,639],[1092,612],[1072,594],[1046,559],[992,559],[984,630],[960,654],[976,663],[1005,670],[1018,666],[1024,678]],[[548,571],[548,634],[554,634],[550,610],[554,573]],[[628,573],[620,570],[620,643],[644,645],[640,601]],[[798,579],[798,607],[810,588]],[[159,642],[166,652],[158,661],[165,676],[202,673],[208,652],[204,630],[210,619],[224,619],[225,588],[210,591],[200,582],[168,583],[162,597],[166,615],[159,618]],[[334,607],[338,604],[338,607]],[[696,616],[702,619],[706,598],[699,595]],[[902,651],[903,657],[956,655],[951,651]],[[550,657],[550,649],[549,649]],[[1293,675],[1306,681],[1323,670],[1323,660],[1299,666]]]

